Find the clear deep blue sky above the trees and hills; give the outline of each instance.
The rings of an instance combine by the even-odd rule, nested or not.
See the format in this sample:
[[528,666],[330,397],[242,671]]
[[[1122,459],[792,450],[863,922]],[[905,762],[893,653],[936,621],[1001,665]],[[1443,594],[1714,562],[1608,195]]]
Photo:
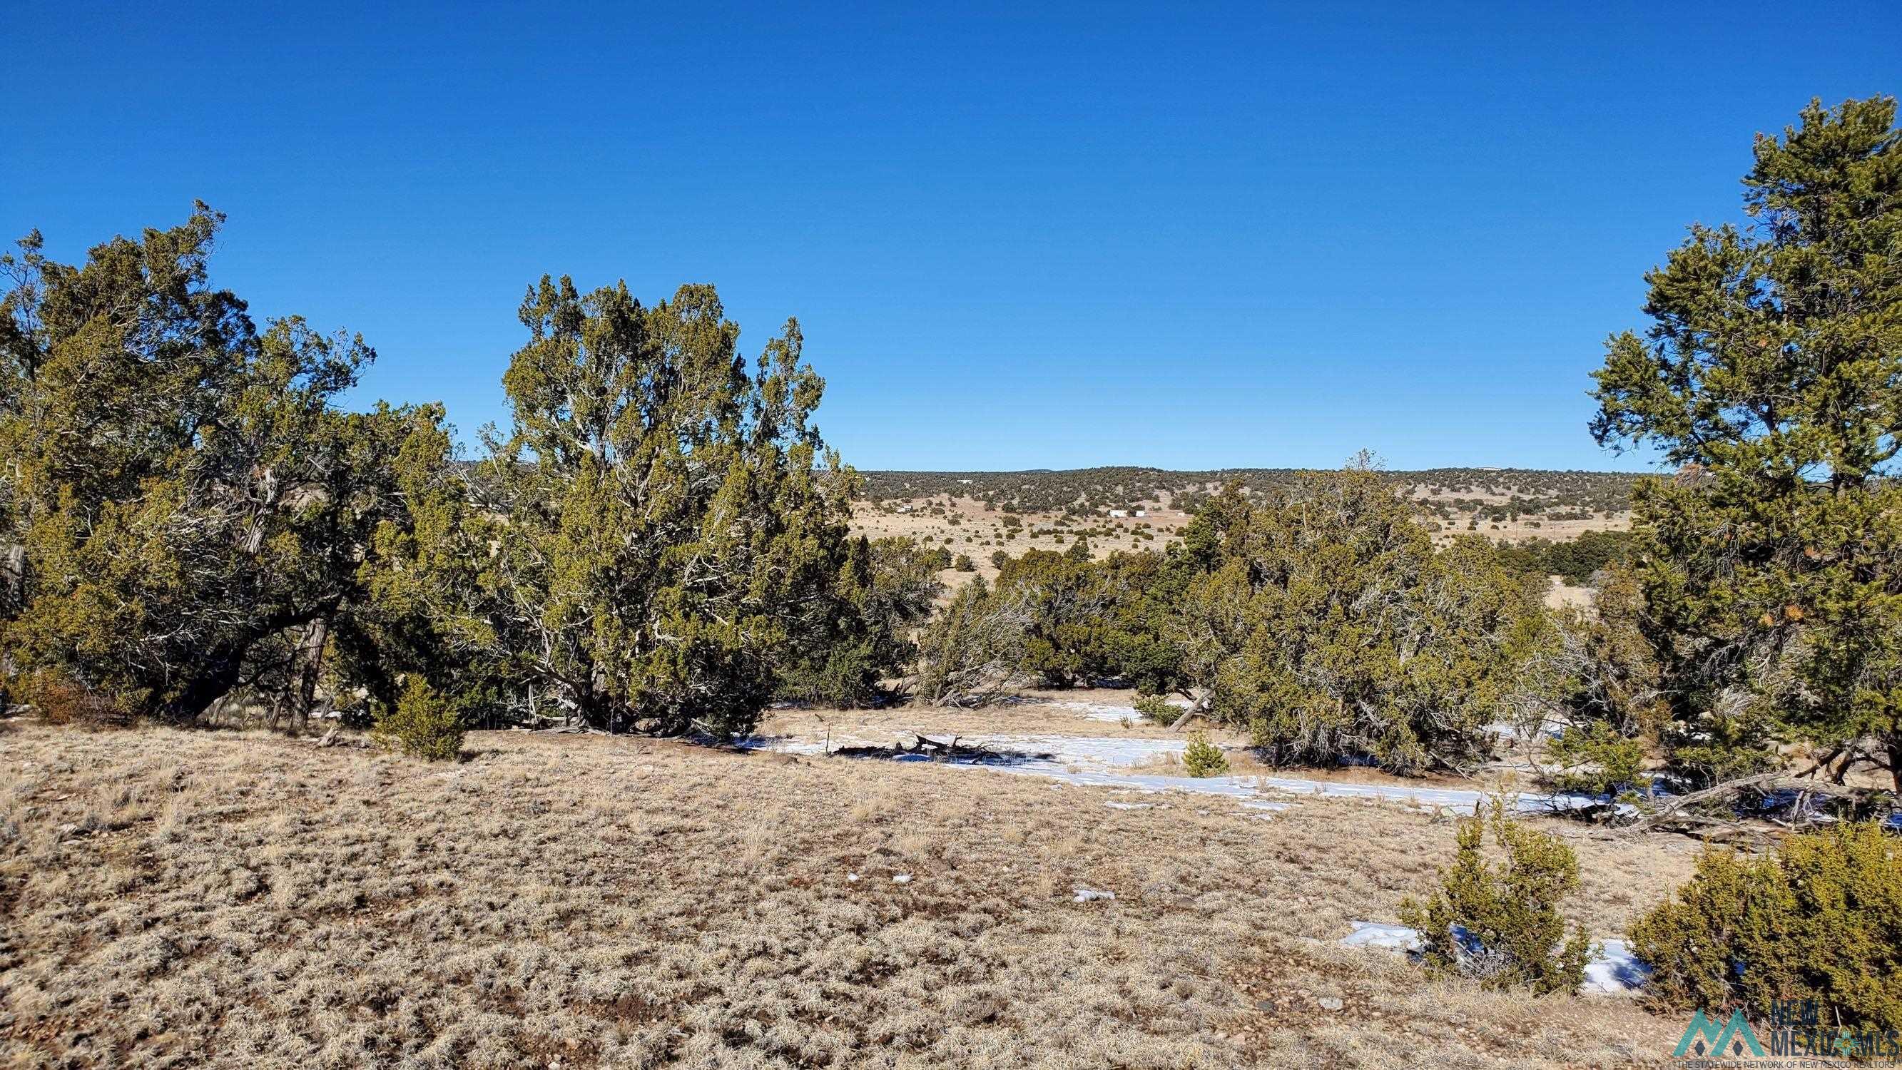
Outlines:
[[1892,0],[84,8],[8,8],[8,238],[204,198],[466,433],[542,272],[711,281],[860,468],[1641,466],[1584,430],[1641,272],[1902,91]]

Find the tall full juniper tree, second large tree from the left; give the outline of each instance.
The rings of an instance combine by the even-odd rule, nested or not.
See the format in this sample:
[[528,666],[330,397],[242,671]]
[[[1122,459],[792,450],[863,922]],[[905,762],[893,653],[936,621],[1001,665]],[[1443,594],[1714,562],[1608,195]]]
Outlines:
[[713,287],[652,308],[626,283],[529,287],[455,538],[474,602],[445,614],[588,724],[746,732],[848,568],[850,469],[810,414],[797,321],[749,371]]

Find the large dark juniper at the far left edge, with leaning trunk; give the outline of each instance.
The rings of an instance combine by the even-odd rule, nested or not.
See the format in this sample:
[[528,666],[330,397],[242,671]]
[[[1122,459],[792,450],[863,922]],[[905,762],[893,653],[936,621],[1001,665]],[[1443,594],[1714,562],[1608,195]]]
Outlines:
[[0,257],[6,654],[143,717],[238,686],[301,724],[329,637],[359,627],[371,534],[407,525],[392,460],[439,409],[342,412],[375,353],[211,289],[223,217]]

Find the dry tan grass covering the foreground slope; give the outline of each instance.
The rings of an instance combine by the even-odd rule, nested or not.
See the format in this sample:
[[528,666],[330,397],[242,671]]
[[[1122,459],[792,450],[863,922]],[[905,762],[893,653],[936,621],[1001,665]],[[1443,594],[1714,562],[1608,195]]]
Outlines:
[[[1341,948],[1447,853],[1447,823],[1396,808],[468,749],[0,736],[0,1064],[1535,1068],[1659,1062],[1681,1030]],[[1689,863],[1579,851],[1600,935]]]

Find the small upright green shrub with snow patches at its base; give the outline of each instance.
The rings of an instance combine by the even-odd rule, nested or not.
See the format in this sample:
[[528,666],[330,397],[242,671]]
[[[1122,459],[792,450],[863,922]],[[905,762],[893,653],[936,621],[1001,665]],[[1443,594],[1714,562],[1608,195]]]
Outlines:
[[[1472,977],[1485,988],[1529,986],[1537,994],[1577,992],[1592,945],[1582,927],[1565,937],[1562,899],[1579,889],[1571,848],[1506,817],[1506,800],[1482,802],[1459,823],[1453,865],[1426,903],[1411,897],[1400,920],[1419,929],[1432,973]],[[1485,859],[1485,834],[1504,863]]]

